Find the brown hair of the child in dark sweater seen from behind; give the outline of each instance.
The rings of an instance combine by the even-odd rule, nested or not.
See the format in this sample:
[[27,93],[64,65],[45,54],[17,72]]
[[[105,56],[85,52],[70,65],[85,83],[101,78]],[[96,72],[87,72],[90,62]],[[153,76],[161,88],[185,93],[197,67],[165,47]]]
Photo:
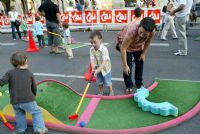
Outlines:
[[10,57],[10,63],[14,67],[25,65],[26,60],[27,60],[27,56],[23,52],[16,52],[12,54],[12,56]]

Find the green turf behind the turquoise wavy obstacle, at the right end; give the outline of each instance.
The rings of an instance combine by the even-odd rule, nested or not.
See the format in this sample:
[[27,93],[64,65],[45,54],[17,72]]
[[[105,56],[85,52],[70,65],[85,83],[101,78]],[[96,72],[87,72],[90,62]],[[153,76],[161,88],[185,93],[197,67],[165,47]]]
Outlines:
[[148,100],[154,102],[168,101],[178,107],[179,115],[186,113],[200,101],[200,82],[157,81],[158,89],[151,92]]

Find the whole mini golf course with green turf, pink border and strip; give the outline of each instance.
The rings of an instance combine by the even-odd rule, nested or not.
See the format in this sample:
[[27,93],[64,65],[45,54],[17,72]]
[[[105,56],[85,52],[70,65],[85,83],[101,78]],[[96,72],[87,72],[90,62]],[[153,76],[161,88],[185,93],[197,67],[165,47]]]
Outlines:
[[[178,108],[178,116],[142,111],[133,94],[111,97],[87,94],[78,119],[69,120],[68,116],[75,113],[81,94],[54,80],[38,83],[36,101],[48,128],[75,133],[153,133],[180,124],[200,111],[200,82],[156,80],[148,89],[151,90],[148,101],[168,101]],[[3,94],[0,96],[0,111],[9,121],[15,121],[9,105],[8,87],[4,86],[0,91]],[[30,115],[27,119],[31,120]],[[82,127],[81,123],[84,123]]]

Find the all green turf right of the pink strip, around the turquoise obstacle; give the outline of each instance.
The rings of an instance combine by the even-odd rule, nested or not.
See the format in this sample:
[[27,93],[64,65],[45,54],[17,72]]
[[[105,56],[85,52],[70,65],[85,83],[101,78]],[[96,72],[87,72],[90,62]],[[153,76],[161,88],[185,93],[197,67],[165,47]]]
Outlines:
[[[158,80],[158,87],[147,98],[153,102],[169,101],[179,108],[182,115],[200,100],[200,82]],[[160,124],[176,117],[144,112],[131,99],[101,100],[88,128],[130,129]]]

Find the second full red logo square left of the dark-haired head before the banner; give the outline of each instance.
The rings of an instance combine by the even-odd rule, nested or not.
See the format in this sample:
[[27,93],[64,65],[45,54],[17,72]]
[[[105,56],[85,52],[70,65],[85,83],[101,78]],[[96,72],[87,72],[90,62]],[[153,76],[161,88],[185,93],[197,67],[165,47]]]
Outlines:
[[100,10],[100,23],[112,23],[112,10]]

